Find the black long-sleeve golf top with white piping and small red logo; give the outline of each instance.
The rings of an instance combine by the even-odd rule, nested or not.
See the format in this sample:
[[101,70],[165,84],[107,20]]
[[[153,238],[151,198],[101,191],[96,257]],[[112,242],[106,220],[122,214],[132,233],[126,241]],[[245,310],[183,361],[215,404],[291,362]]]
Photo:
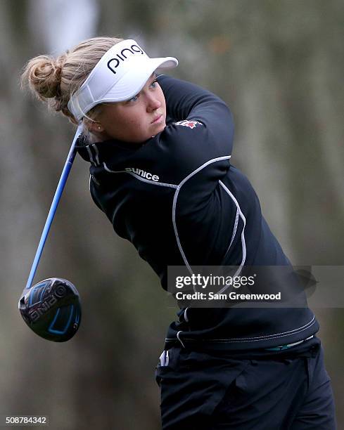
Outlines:
[[[77,142],[91,163],[90,191],[115,232],[132,242],[167,289],[167,267],[290,266],[245,175],[231,164],[234,122],[227,105],[172,77],[158,82],[165,129],[140,145]],[[183,308],[167,347],[247,350],[291,344],[319,324],[298,308]],[[179,339],[179,340],[178,340]]]

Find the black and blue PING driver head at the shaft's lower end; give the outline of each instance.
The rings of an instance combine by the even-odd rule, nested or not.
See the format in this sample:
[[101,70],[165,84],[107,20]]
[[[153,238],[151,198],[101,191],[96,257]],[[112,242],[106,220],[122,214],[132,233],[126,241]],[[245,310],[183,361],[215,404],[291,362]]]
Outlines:
[[18,308],[33,332],[55,342],[71,339],[81,321],[79,293],[72,282],[62,278],[49,278],[24,289]]

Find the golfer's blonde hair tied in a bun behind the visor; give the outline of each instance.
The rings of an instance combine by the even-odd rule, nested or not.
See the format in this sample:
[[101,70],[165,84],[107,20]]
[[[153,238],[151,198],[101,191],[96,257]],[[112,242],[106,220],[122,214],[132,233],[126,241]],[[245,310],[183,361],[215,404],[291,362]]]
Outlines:
[[[87,79],[91,70],[101,57],[123,39],[115,37],[93,37],[80,42],[61,56],[37,56],[32,58],[21,77],[22,88],[28,86],[39,100],[57,112],[62,112],[70,121],[77,120],[68,110],[72,93]],[[87,119],[92,121],[96,107],[88,112]]]

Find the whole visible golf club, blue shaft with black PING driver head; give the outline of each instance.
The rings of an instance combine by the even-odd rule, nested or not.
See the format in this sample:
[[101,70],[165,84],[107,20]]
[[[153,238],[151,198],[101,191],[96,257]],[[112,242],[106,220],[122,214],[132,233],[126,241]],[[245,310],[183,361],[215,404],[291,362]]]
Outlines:
[[33,286],[32,281],[37,271],[39,259],[41,258],[58,202],[75,159],[75,143],[81,132],[82,124],[79,124],[68,152],[60,181],[58,181],[26,287],[23,289],[18,302],[20,315],[22,315],[23,320],[30,329],[40,337],[56,342],[68,341],[79,328],[81,321],[79,293],[71,282],[62,278],[49,278]]

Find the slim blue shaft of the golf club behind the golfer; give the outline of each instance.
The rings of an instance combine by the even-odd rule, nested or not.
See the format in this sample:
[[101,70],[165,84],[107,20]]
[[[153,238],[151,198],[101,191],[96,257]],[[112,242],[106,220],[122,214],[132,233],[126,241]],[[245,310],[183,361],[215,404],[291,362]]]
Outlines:
[[77,127],[77,131],[75,133],[75,136],[73,138],[72,145],[70,147],[70,151],[68,152],[68,157],[65,161],[65,166],[63,167],[60,181],[58,181],[58,186],[56,188],[55,195],[53,196],[53,202],[51,202],[49,214],[48,214],[48,217],[46,219],[46,223],[44,225],[42,236],[41,236],[41,239],[39,240],[39,245],[37,247],[37,252],[36,252],[36,255],[34,256],[34,261],[32,263],[30,275],[29,275],[29,278],[27,280],[27,284],[25,287],[26,289],[30,288],[32,285],[32,281],[34,279],[34,274],[36,273],[39,259],[41,258],[43,248],[44,248],[44,245],[46,242],[46,237],[48,237],[51,223],[53,222],[53,217],[56,213],[56,208],[58,206],[58,202],[60,201],[60,197],[63,193],[63,188],[65,188],[65,183],[66,183],[68,175],[70,173],[70,169],[72,168],[72,163],[75,159],[75,154],[76,154],[75,143],[76,143],[77,138],[79,137],[79,134],[81,132],[82,132],[82,124],[79,124],[79,126]]

